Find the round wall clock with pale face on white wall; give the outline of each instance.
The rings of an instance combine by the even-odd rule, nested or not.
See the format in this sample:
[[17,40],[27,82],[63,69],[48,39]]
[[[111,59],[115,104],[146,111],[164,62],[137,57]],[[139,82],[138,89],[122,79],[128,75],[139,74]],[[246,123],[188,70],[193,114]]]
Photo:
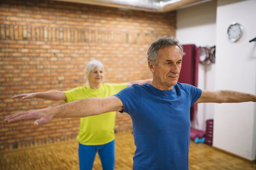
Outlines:
[[236,42],[240,39],[243,33],[243,26],[238,23],[232,23],[227,29],[229,40]]

